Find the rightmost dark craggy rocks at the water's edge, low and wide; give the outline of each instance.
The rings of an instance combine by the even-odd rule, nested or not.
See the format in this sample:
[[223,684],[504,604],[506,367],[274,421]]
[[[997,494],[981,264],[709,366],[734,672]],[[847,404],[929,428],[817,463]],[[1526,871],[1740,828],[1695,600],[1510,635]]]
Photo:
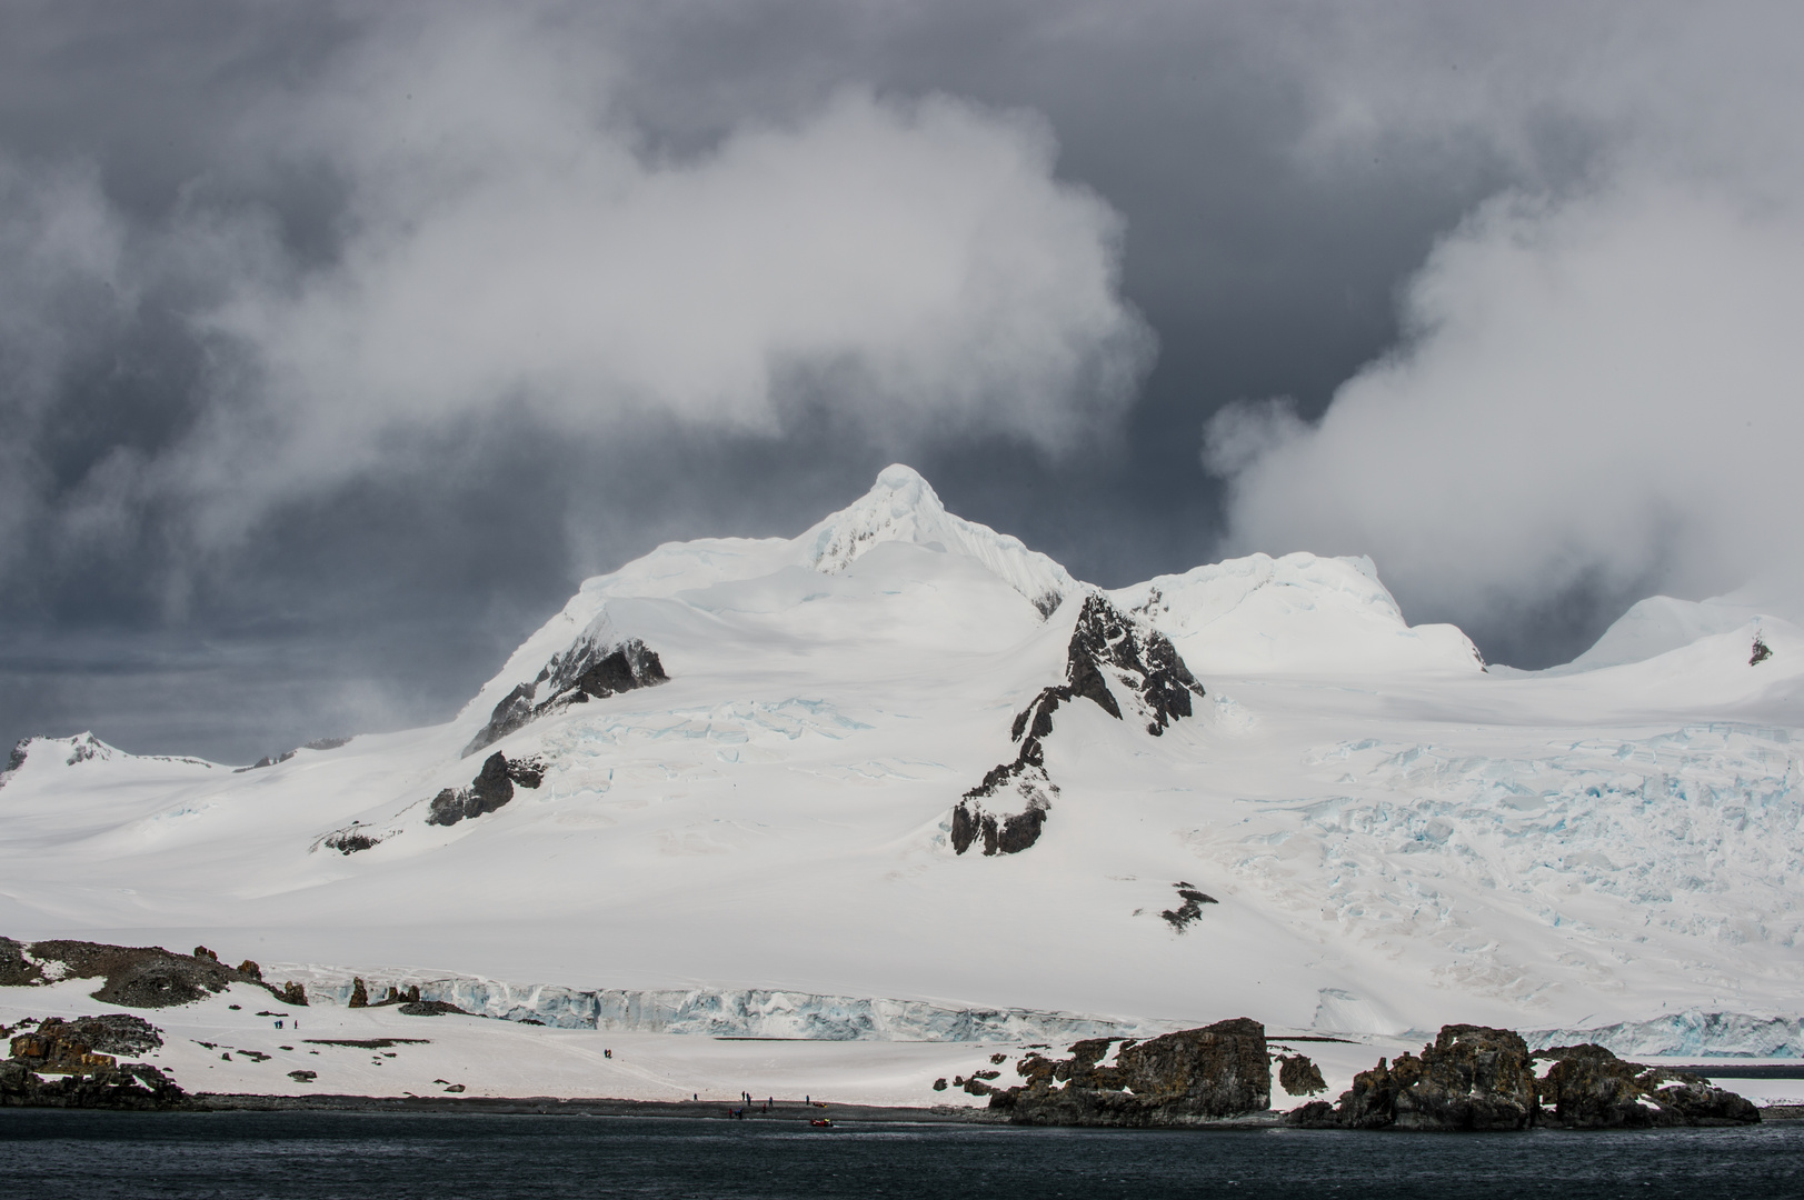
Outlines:
[[[1546,1075],[1533,1063],[1551,1059]],[[1544,1108],[1551,1104],[1551,1110]],[[1615,1130],[1748,1124],[1761,1115],[1734,1092],[1680,1072],[1624,1063],[1598,1045],[1528,1052],[1506,1029],[1447,1025],[1422,1056],[1378,1059],[1337,1104],[1317,1101],[1292,1124],[1344,1130],[1483,1131],[1557,1124]]]

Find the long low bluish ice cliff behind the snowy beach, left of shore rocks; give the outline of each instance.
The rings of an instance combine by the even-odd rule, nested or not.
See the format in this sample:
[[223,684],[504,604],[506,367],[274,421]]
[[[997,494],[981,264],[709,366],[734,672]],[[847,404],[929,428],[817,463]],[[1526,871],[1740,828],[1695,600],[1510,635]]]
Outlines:
[[[355,987],[343,969],[274,967],[283,978],[308,976],[307,994],[345,1005]],[[1111,1021],[1032,1009],[963,1009],[920,1000],[815,996],[772,989],[579,991],[554,983],[512,985],[480,976],[382,974],[417,985],[420,1000],[455,1003],[465,1012],[556,1029],[601,1029],[702,1038],[778,1038],[808,1041],[1072,1041],[1147,1038],[1169,1025]],[[370,982],[366,980],[366,987]]]

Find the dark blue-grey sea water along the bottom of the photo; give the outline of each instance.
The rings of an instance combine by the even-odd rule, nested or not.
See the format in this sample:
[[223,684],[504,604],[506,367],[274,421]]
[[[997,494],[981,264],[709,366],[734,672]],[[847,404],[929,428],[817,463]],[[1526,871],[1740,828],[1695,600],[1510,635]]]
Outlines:
[[1804,1196],[1804,1124],[1459,1137],[0,1110],[0,1195]]

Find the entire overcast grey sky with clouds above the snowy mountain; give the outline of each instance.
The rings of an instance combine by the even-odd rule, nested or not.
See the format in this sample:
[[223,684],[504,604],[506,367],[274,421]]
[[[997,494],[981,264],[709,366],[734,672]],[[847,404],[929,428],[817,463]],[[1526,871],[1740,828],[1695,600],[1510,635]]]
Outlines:
[[1800,13],[0,0],[0,736],[440,720],[893,460],[1517,666],[1795,612]]

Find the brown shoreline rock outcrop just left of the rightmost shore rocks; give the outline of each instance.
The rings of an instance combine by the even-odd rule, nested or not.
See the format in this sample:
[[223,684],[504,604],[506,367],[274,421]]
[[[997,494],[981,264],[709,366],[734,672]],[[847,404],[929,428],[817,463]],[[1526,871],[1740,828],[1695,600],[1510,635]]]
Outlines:
[[[1104,1065],[1111,1047],[1118,1047],[1115,1063]],[[1023,1057],[1016,1065],[1021,1086],[983,1085],[985,1072],[962,1083],[967,1092],[978,1083],[990,1108],[1017,1124],[1201,1124],[1272,1103],[1265,1027],[1248,1018],[1149,1041],[1091,1038],[1070,1052],[1068,1059]]]

